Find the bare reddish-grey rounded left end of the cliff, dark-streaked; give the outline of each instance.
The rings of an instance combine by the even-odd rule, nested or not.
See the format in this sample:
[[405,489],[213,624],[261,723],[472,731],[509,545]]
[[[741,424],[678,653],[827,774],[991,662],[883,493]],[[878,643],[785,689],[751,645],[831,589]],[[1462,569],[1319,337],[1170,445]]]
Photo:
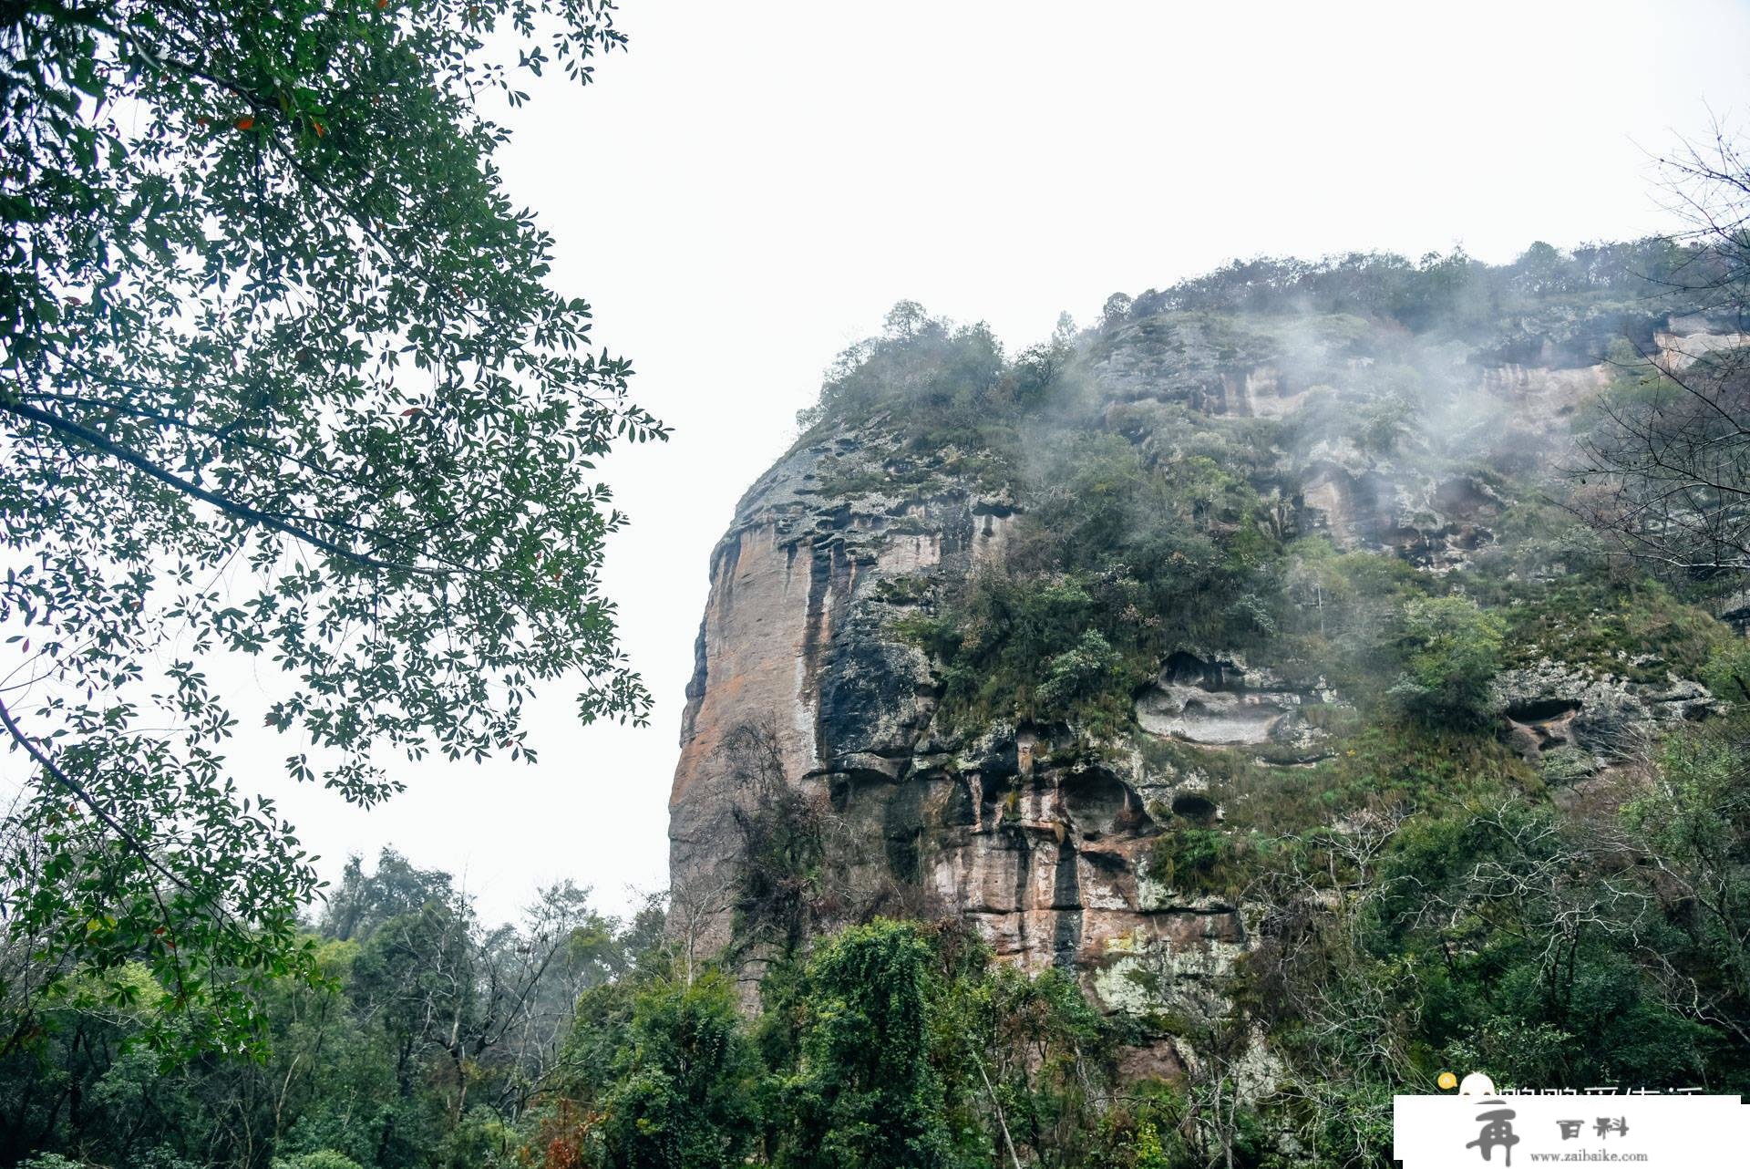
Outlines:
[[[929,662],[891,635],[903,600],[882,586],[998,556],[1013,504],[952,476],[903,497],[838,495],[835,478],[878,466],[880,450],[868,432],[798,446],[747,492],[712,553],[668,824],[679,912],[698,903],[707,948],[730,928],[721,891],[746,794],[723,747],[738,726],[770,726],[784,775],[826,789],[903,878],[924,875],[926,819],[976,822],[980,800],[931,738]],[[990,752],[1018,766],[1013,738]]]

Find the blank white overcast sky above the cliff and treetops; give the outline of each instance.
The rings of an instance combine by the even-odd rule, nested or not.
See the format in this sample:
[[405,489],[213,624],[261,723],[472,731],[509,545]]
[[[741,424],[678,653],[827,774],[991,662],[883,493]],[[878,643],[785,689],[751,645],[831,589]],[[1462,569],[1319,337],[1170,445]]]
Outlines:
[[562,686],[536,768],[425,765],[373,812],[285,802],[329,872],[392,844],[492,917],[565,877],[609,910],[665,884],[710,548],[892,301],[1013,348],[1232,257],[1647,234],[1648,154],[1710,108],[1750,126],[1750,4],[623,0],[621,28],[630,52],[537,89],[502,161],[676,429],[607,464],[632,516],[607,592],[653,724],[578,728]]

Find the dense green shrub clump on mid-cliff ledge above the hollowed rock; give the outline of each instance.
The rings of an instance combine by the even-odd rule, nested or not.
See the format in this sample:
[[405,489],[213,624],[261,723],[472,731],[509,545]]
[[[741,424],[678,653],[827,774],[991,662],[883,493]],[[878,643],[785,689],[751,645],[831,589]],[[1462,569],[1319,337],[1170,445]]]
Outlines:
[[1006,570],[975,576],[910,632],[943,663],[943,704],[1122,732],[1186,644],[1258,644],[1279,541],[1256,490],[1213,458],[1150,466],[1118,436],[1071,441],[1018,520]]

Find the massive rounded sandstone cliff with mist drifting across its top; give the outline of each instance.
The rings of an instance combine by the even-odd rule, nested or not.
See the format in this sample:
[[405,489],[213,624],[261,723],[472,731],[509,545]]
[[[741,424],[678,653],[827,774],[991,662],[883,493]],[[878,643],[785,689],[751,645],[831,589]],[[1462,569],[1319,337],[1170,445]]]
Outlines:
[[1382,304],[1377,271],[1325,303],[1244,275],[1115,298],[1013,360],[896,312],[710,558],[670,800],[700,952],[738,938],[751,978],[780,947],[744,880],[774,789],[738,738],[831,822],[814,928],[959,915],[1141,1015],[1269,933],[1236,849],[1365,836],[1426,800],[1412,784],[1463,782],[1407,779],[1368,738],[1447,700],[1405,612],[1502,614],[1465,742],[1538,798],[1584,800],[1624,735],[1704,714],[1682,637],[1580,635],[1596,550],[1558,495],[1628,362],[1732,338],[1615,270],[1556,290],[1489,271],[1480,304]]

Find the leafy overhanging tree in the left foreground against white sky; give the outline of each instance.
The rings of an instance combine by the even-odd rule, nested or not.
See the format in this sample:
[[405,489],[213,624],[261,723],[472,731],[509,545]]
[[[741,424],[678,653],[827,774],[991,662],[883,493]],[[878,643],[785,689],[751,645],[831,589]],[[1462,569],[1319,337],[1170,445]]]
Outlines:
[[[4,900],[56,978],[140,959],[200,1046],[259,1041],[315,873],[228,774],[242,721],[371,805],[396,754],[527,756],[553,679],[644,719],[590,472],[665,430],[485,105],[621,44],[606,0],[0,5]],[[224,656],[273,662],[262,710]]]

